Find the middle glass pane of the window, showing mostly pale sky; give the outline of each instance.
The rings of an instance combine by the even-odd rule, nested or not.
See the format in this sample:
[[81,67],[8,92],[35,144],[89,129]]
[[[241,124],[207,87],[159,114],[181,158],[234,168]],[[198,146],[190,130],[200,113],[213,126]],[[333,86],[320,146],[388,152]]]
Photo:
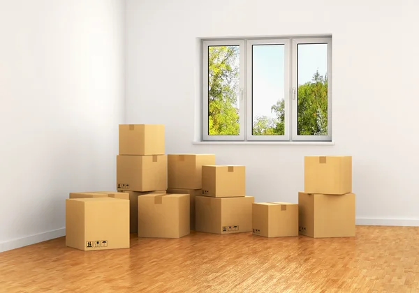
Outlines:
[[252,46],[252,134],[284,135],[284,45]]

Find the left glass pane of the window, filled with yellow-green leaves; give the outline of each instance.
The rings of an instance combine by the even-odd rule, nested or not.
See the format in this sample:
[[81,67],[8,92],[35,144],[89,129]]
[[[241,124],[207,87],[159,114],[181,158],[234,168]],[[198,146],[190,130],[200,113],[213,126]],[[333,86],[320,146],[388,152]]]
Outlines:
[[239,135],[240,46],[208,47],[208,135]]

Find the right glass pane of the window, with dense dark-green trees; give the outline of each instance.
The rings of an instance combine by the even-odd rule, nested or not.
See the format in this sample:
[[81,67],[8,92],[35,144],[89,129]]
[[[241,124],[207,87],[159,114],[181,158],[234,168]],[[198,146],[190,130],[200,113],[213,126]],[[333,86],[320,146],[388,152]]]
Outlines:
[[298,44],[297,135],[328,135],[328,44]]

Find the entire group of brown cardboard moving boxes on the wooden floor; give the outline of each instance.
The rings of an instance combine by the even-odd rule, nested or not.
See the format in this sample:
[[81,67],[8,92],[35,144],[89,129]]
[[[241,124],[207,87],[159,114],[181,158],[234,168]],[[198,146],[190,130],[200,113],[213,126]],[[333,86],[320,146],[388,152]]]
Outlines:
[[298,204],[254,202],[246,168],[215,165],[214,154],[165,154],[165,128],[119,126],[117,191],[70,193],[66,245],[129,248],[139,237],[216,234],[314,238],[355,236],[351,156],[306,156]]

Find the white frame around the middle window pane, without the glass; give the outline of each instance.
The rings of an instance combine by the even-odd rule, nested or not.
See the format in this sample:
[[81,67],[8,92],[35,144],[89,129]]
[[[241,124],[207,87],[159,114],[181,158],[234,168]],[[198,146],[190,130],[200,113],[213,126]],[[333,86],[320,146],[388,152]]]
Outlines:
[[[253,135],[253,45],[284,45],[284,103],[285,103],[285,131],[284,135]],[[267,39],[267,40],[248,40],[247,41],[247,140],[251,141],[282,141],[290,139],[290,40],[288,39]]]

